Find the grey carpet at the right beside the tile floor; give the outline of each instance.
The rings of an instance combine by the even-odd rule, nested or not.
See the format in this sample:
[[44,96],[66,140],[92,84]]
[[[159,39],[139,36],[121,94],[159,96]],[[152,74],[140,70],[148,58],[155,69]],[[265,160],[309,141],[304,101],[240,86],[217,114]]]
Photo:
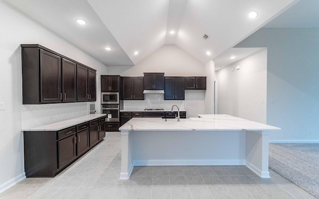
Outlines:
[[319,143],[269,144],[269,168],[319,198]]

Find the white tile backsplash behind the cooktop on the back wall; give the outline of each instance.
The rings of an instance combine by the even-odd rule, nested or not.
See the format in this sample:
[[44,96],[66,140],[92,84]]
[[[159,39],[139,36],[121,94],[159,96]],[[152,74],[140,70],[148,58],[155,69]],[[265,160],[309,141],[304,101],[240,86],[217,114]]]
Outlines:
[[124,109],[163,108],[170,110],[174,104],[184,109],[184,100],[164,100],[164,94],[145,94],[144,97],[144,100],[124,100]]

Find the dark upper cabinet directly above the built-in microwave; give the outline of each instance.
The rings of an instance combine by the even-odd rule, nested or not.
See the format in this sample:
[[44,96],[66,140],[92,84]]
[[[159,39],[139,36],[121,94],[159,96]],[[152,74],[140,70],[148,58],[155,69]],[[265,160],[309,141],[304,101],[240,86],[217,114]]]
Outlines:
[[121,77],[101,75],[101,92],[120,92]]

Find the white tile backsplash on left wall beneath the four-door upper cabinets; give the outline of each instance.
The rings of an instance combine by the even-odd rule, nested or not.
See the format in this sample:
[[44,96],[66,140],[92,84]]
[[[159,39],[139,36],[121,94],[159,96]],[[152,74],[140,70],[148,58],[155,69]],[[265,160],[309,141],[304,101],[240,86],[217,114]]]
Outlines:
[[23,104],[21,129],[30,129],[89,114],[89,102]]

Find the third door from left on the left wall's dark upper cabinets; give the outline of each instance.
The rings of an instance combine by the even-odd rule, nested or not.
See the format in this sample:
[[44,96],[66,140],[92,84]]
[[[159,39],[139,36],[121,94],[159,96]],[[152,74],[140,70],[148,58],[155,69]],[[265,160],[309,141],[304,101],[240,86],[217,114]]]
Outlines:
[[88,69],[77,65],[78,101],[88,100]]

